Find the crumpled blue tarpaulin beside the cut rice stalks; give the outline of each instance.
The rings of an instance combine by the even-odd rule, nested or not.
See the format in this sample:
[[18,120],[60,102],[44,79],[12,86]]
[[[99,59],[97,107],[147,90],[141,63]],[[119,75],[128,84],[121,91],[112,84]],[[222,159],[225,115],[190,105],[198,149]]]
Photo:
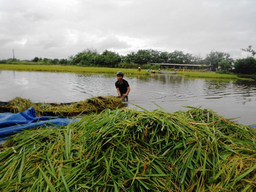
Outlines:
[[[76,119],[79,120],[79,119]],[[36,117],[34,107],[28,108],[16,114],[11,112],[0,113],[0,141],[17,131],[27,130],[39,126],[65,126],[71,123],[71,119],[55,116]]]

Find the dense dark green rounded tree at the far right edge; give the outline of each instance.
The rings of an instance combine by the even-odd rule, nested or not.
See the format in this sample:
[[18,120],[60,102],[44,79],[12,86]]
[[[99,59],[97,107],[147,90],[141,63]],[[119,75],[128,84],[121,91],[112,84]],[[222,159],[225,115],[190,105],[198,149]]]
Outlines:
[[234,63],[234,68],[236,73],[256,74],[256,59],[253,57],[238,59]]

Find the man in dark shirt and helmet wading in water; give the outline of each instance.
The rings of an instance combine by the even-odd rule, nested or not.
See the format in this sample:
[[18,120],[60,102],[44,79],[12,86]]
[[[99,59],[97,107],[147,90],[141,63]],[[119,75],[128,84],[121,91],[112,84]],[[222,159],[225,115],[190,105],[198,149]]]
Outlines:
[[130,85],[123,79],[123,72],[117,72],[117,82],[115,82],[117,88],[118,97],[123,97],[128,101],[128,94],[130,92]]

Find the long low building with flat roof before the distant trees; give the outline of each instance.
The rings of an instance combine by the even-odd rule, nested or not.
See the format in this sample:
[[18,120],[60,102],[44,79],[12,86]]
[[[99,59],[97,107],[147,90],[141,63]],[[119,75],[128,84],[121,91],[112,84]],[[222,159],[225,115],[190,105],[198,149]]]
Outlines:
[[203,69],[203,70],[213,70],[210,65],[192,65],[192,64],[168,64],[168,63],[150,63],[150,65],[160,65],[162,69]]

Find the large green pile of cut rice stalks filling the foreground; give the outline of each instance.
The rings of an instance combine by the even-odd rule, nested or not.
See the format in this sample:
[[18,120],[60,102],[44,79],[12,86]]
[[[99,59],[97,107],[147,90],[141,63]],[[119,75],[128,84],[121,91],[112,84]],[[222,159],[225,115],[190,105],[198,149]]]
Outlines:
[[255,191],[256,130],[214,111],[105,110],[11,136],[1,191]]

